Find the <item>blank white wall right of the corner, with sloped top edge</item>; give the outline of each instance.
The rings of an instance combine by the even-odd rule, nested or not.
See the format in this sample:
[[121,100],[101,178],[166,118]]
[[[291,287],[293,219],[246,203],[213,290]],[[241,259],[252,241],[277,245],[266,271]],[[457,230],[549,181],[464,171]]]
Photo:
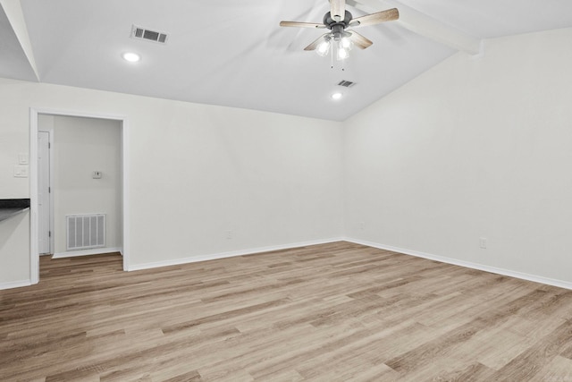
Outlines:
[[571,40],[488,40],[349,119],[348,236],[572,282]]

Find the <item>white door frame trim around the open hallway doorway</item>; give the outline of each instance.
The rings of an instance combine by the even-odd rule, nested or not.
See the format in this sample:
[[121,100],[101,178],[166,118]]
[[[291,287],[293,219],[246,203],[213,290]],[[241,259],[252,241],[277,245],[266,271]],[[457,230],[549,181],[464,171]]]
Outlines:
[[[29,108],[29,275],[30,283],[39,282],[39,246],[38,246],[38,115],[63,115],[85,118],[107,119],[121,123],[121,170],[122,170],[122,256],[123,270],[129,270],[130,221],[129,221],[129,121],[125,115],[79,112],[46,107]],[[51,164],[50,164],[51,166]]]

